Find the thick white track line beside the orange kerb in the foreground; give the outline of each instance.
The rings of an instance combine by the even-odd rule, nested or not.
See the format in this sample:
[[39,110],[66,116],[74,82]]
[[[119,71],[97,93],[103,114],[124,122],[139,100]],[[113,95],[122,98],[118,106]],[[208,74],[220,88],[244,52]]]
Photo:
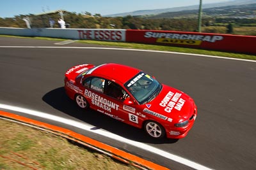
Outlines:
[[136,147],[141,148],[143,150],[147,150],[148,152],[155,153],[157,155],[160,155],[161,157],[165,157],[166,159],[170,159],[170,160],[173,160],[175,162],[179,162],[180,164],[183,164],[183,165],[188,166],[188,167],[192,167],[194,169],[198,169],[198,170],[201,170],[201,169],[202,170],[209,170],[210,169],[209,167],[202,166],[202,165],[200,165],[196,162],[193,162],[191,160],[184,159],[184,158],[179,157],[177,155],[173,155],[172,153],[168,153],[168,152],[165,152],[163,150],[159,150],[158,148],[147,145],[145,143],[132,141],[130,139],[123,138],[122,136],[118,136],[118,135],[113,134],[111,132],[104,131],[104,130],[101,130],[101,129],[97,129],[97,128],[93,127],[92,125],[77,122],[75,120],[70,120],[70,119],[67,119],[67,118],[58,117],[58,116],[51,115],[49,113],[44,113],[44,112],[41,112],[41,111],[29,110],[29,109],[20,108],[20,107],[17,107],[17,106],[10,106],[10,105],[7,105],[7,104],[0,104],[0,108],[2,108],[4,110],[18,111],[20,113],[25,113],[25,114],[33,115],[33,116],[36,116],[36,117],[45,118],[45,119],[48,119],[48,120],[53,120],[55,122],[61,122],[62,124],[66,124],[66,125],[71,125],[71,126],[79,128],[79,129],[83,129],[85,131],[90,131],[90,132],[93,132],[95,134],[99,134],[101,136],[105,136],[105,137],[114,139],[116,141],[121,141],[122,143],[127,143],[129,145],[136,146]]

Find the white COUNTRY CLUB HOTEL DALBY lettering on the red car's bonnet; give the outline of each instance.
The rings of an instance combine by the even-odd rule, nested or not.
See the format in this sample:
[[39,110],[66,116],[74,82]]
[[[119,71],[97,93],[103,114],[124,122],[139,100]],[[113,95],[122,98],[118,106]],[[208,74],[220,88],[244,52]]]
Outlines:
[[173,92],[168,92],[164,99],[159,103],[160,106],[164,107],[164,111],[171,113],[173,108],[175,110],[181,110],[182,106],[186,102],[184,99],[182,99],[180,96],[182,94],[180,93],[173,93]]

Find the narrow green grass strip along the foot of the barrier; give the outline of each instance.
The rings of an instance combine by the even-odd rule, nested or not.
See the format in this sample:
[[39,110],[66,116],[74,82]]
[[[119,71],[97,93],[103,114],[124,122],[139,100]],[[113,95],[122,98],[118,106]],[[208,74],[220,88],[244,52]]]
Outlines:
[[[8,37],[17,38],[19,36],[8,36]],[[19,37],[19,38],[24,38],[24,37]],[[65,40],[60,38],[44,38],[44,37],[35,37],[34,39],[46,39],[49,41]],[[248,55],[244,53],[218,52],[213,50],[200,50],[195,48],[182,48],[182,47],[175,47],[175,46],[145,45],[140,43],[121,43],[121,42],[94,41],[94,40],[78,40],[77,42],[93,44],[93,45],[113,46],[113,47],[120,47],[120,48],[156,50],[156,51],[164,51],[164,52],[195,53],[195,54],[202,54],[202,55],[213,55],[213,56],[220,56],[220,57],[232,57],[237,59],[256,60],[256,55]]]

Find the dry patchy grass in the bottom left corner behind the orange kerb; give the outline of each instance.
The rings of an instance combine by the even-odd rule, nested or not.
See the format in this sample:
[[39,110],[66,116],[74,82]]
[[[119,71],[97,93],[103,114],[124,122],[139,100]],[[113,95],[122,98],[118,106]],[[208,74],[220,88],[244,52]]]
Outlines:
[[136,169],[49,132],[0,119],[0,169]]

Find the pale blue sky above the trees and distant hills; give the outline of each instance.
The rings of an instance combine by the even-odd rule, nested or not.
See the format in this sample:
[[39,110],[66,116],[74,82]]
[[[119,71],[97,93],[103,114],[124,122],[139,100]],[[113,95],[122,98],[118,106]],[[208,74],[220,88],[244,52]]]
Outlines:
[[[202,0],[203,4],[228,0]],[[76,13],[88,11],[94,15],[111,15],[137,10],[155,10],[199,4],[199,0],[0,0],[0,17],[39,14],[44,11],[67,10]]]

